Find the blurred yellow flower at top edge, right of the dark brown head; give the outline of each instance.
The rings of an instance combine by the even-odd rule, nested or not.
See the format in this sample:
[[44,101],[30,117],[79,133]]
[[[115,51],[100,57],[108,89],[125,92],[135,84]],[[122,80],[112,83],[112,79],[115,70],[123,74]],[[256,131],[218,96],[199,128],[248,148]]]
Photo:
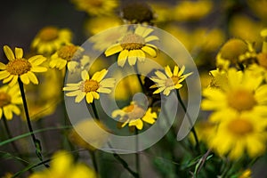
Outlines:
[[180,1],[174,8],[175,20],[200,20],[208,15],[213,8],[212,1]]

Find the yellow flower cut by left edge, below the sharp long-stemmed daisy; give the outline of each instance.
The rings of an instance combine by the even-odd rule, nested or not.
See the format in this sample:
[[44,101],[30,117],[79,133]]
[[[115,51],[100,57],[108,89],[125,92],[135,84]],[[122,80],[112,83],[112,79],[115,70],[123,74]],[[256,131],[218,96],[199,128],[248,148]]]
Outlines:
[[22,100],[19,85],[0,87],[0,119],[3,114],[8,120],[12,119],[12,113],[20,115],[20,108],[17,106],[20,104],[22,104]]

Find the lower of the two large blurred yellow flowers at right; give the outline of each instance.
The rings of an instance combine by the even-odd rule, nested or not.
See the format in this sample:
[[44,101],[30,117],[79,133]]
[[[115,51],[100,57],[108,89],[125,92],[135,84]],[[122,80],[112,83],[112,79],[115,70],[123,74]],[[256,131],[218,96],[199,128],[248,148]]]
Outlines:
[[212,114],[209,120],[219,123],[207,142],[219,155],[238,159],[245,153],[250,158],[264,153],[267,138],[265,117],[259,117],[253,112],[239,113],[232,110],[220,116]]

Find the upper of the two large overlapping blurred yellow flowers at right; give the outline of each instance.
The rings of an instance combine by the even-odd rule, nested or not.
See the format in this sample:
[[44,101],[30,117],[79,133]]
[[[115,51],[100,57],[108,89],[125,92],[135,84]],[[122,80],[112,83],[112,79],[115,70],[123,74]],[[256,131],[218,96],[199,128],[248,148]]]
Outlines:
[[267,85],[261,85],[263,76],[254,76],[249,70],[242,73],[229,69],[227,78],[222,87],[203,90],[202,109],[215,110],[222,116],[232,109],[255,111],[255,115],[267,114]]

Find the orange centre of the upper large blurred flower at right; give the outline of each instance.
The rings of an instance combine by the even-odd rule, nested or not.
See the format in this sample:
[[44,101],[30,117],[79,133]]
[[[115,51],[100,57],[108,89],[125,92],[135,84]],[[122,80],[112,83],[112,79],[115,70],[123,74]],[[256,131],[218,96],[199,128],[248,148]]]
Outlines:
[[228,93],[227,101],[231,108],[239,111],[253,109],[257,103],[254,94],[244,89]]

